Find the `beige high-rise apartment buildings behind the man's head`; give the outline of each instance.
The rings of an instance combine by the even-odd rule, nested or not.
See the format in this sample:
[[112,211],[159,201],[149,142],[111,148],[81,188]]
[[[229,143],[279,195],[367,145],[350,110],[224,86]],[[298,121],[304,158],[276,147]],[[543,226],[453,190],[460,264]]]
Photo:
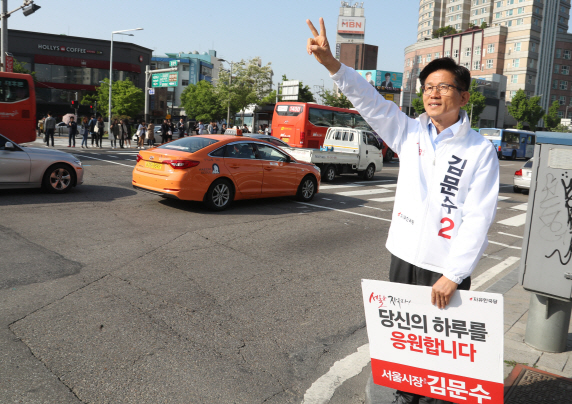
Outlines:
[[[432,59],[449,56],[473,77],[500,83],[494,75],[505,76],[506,102],[522,89],[540,95],[546,111],[558,100],[564,116],[572,96],[566,80],[572,65],[566,59],[572,51],[569,17],[570,0],[421,0],[418,41],[405,49],[404,85],[415,85]],[[447,26],[458,33],[434,38]],[[407,92],[405,106],[411,102]],[[516,122],[505,114],[503,123]]]

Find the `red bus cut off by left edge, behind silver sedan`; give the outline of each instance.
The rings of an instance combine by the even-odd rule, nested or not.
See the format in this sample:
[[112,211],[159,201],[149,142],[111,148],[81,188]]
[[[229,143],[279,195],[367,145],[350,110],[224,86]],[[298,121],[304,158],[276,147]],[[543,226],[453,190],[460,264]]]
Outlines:
[[36,140],[36,92],[29,74],[0,72],[0,133],[16,143]]

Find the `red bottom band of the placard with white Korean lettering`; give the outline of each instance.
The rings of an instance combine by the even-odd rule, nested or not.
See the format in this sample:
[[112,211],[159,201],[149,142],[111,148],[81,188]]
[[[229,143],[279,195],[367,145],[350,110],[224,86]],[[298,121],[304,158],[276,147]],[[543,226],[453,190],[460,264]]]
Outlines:
[[375,384],[453,403],[499,404],[503,383],[494,383],[398,363],[371,360]]

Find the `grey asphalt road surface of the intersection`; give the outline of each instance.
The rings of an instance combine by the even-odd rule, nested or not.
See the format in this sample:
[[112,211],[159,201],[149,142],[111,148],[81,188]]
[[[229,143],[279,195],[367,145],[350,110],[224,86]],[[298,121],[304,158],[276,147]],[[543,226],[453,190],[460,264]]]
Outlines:
[[[73,152],[86,174],[69,194],[0,191],[0,402],[300,403],[367,342],[360,280],[388,278],[397,163],[311,204],[213,213],[133,190],[134,149]],[[473,278],[520,257],[522,164],[501,161]],[[364,402],[367,371],[331,402]]]

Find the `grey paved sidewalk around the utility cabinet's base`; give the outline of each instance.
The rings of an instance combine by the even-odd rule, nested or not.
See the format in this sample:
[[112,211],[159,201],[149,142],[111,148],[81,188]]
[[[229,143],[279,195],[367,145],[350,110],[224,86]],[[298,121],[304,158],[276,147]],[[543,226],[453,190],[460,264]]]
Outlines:
[[[504,378],[506,379],[517,364],[527,365],[551,374],[572,377],[572,322],[568,330],[566,351],[555,354],[538,351],[524,342],[530,292],[518,282],[519,267],[486,289],[486,292],[504,295]],[[542,389],[540,383],[538,389]],[[534,384],[528,389],[534,390]],[[568,391],[572,396],[572,391]],[[393,400],[393,390],[373,384],[370,376],[366,386],[367,404],[389,404]],[[531,401],[532,402],[532,401]],[[570,401],[572,403],[572,398]],[[512,401],[510,401],[512,404]]]

